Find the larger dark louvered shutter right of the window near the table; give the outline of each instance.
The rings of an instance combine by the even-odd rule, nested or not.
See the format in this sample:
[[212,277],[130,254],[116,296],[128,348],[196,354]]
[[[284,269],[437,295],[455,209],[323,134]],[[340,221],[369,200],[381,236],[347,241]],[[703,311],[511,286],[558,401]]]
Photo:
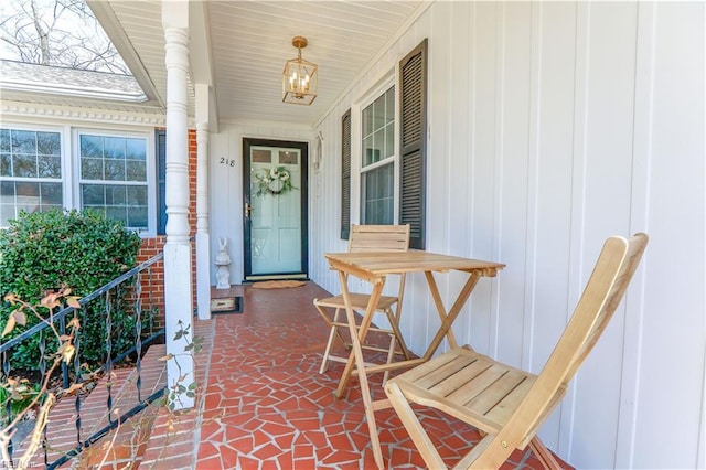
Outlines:
[[425,249],[427,156],[427,40],[399,62],[399,223],[409,224],[409,247]]

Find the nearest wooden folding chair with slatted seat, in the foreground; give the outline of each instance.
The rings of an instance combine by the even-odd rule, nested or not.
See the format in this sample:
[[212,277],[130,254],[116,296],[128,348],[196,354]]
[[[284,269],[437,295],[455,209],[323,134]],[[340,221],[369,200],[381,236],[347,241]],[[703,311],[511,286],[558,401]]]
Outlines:
[[560,468],[536,436],[620,302],[648,243],[609,238],[574,314],[539,375],[458,348],[391,378],[385,393],[429,468],[447,468],[410,403],[445,412],[485,434],[454,467],[500,468],[530,445],[545,468]]

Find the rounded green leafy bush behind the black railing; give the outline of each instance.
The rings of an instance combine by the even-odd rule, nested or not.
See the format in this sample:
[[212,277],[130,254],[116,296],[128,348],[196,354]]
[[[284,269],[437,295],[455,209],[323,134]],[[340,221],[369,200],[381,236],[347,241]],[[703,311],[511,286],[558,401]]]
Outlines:
[[[0,299],[12,292],[25,301],[38,301],[47,290],[69,287],[85,297],[132,268],[140,248],[138,234],[119,222],[92,211],[21,213],[0,231]],[[135,316],[126,302],[127,289],[116,289],[110,300],[114,353],[125,351],[135,337]],[[94,300],[81,310],[81,360],[92,365],[106,357],[106,309]],[[0,303],[0,330],[13,308]],[[49,313],[49,310],[47,310]],[[26,328],[39,319],[28,317]],[[15,328],[11,337],[21,334]],[[36,335],[35,335],[36,337]],[[47,345],[47,350],[54,345]],[[36,370],[39,338],[13,348],[13,368]]]

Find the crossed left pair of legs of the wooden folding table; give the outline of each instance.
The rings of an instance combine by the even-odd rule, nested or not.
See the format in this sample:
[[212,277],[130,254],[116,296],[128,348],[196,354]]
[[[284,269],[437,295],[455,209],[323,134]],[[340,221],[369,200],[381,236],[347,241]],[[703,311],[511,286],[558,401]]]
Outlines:
[[365,314],[363,316],[363,321],[359,330],[355,323],[355,313],[353,312],[353,308],[351,307],[351,295],[347,289],[347,282],[345,282],[345,275],[342,271],[339,271],[339,278],[341,280],[341,289],[343,290],[343,299],[345,300],[345,314],[349,322],[349,331],[351,332],[352,351],[351,355],[349,356],[349,362],[345,364],[345,368],[343,370],[343,375],[341,376],[341,381],[339,382],[339,387],[335,392],[335,396],[338,398],[341,398],[341,396],[343,396],[345,385],[349,382],[353,367],[355,367],[359,382],[361,384],[361,395],[363,397],[363,407],[365,408],[367,431],[371,435],[373,457],[375,459],[375,463],[377,463],[377,467],[382,470],[385,468],[383,463],[383,451],[379,446],[379,437],[377,436],[377,423],[375,423],[375,410],[373,409],[373,397],[371,395],[371,388],[367,383],[367,373],[365,371],[362,343],[365,340],[367,329],[373,321],[373,313],[375,312],[375,307],[377,306],[377,301],[379,300],[379,297],[383,292],[383,287],[385,287],[385,280],[383,279],[382,282],[373,285],[373,291],[371,292],[367,309],[365,310]]

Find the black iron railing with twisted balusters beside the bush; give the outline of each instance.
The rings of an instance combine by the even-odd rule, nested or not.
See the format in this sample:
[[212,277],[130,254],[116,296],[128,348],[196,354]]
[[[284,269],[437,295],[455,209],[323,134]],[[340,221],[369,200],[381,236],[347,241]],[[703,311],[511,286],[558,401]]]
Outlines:
[[[117,277],[110,282],[106,284],[101,288],[96,291],[89,293],[88,296],[79,299],[78,303],[81,305],[79,311],[103,311],[105,316],[100,316],[100,318],[105,318],[105,363],[99,366],[97,370],[92,371],[90,374],[85,374],[84,370],[84,361],[82,359],[82,341],[84,341],[81,333],[76,334],[74,338],[74,346],[76,353],[72,357],[71,364],[62,361],[61,371],[58,374],[61,375],[61,384],[63,389],[66,391],[71,388],[77,388],[77,385],[83,384],[84,381],[96,381],[97,377],[107,376],[110,377],[113,370],[116,365],[121,364],[128,356],[131,357],[135,364],[135,371],[137,378],[133,382],[135,391],[131,391],[133,396],[137,396],[137,404],[132,406],[130,409],[119,409],[119,415],[114,413],[114,391],[111,380],[106,381],[107,387],[107,400],[106,400],[106,412],[105,415],[108,418],[108,423],[106,426],[100,429],[93,431],[89,436],[82,435],[82,403],[85,400],[85,393],[75,393],[75,396],[65,395],[63,396],[62,391],[57,393],[57,397],[61,400],[74,398],[74,416],[75,416],[75,446],[69,450],[64,450],[56,458],[56,452],[50,452],[50,446],[47,446],[46,439],[47,434],[50,431],[49,427],[51,426],[51,420],[47,423],[44,428],[44,442],[43,442],[43,462],[47,469],[54,469],[58,466],[67,462],[68,460],[78,456],[83,450],[88,447],[95,445],[101,437],[108,435],[113,429],[122,425],[126,420],[139,414],[142,409],[147,408],[151,403],[156,402],[160,397],[164,395],[165,387],[161,386],[156,391],[150,392],[148,396],[143,396],[146,393],[142,391],[142,377],[141,377],[141,367],[142,367],[142,355],[147,350],[147,346],[150,343],[156,341],[164,340],[164,328],[157,330],[154,328],[154,312],[158,310],[158,307],[153,302],[152,292],[154,291],[156,279],[154,279],[154,268],[156,264],[162,260],[162,253],[153,256],[149,260],[142,263],[141,265],[130,269],[124,275]],[[161,281],[160,281],[161,282]],[[120,302],[121,305],[117,305],[116,302]],[[135,340],[133,345],[124,351],[114,351],[115,345],[113,344],[113,321],[116,309],[129,309],[130,314],[135,317]],[[39,337],[39,351],[40,351],[40,362],[38,364],[38,371],[41,374],[41,381],[44,382],[46,378],[45,375],[51,372],[47,371],[47,360],[46,360],[46,350],[47,350],[47,337],[52,337],[47,334],[47,328],[53,327],[60,332],[60,334],[66,334],[66,323],[67,320],[71,321],[71,318],[76,314],[76,308],[74,307],[65,307],[57,313],[51,316],[49,321],[40,322],[34,327],[28,329],[22,334],[12,338],[11,340],[6,341],[0,345],[0,361],[1,361],[1,370],[2,370],[2,378],[3,382],[11,377],[13,373],[12,368],[12,350],[13,348],[19,346],[23,342],[29,339],[33,339]],[[86,313],[82,316],[82,328],[84,322],[89,321]],[[81,331],[81,330],[79,330]],[[4,426],[8,426],[12,421],[12,410],[11,410],[11,400],[8,399],[4,405]],[[12,432],[12,429],[6,429],[8,434]],[[64,430],[67,432],[68,430]],[[29,437],[28,437],[29,439]],[[9,457],[13,459],[13,447],[15,447],[17,442],[9,444]],[[50,461],[53,460],[53,461]],[[12,462],[10,462],[12,464]]]

